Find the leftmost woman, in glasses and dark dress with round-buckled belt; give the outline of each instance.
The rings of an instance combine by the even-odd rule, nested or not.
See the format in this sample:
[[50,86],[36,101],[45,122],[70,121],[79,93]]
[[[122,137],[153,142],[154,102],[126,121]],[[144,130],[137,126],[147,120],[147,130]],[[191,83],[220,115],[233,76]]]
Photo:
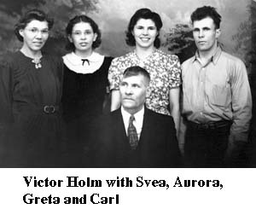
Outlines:
[[52,26],[43,11],[27,11],[15,26],[23,45],[1,63],[2,166],[60,165],[62,61],[41,51]]

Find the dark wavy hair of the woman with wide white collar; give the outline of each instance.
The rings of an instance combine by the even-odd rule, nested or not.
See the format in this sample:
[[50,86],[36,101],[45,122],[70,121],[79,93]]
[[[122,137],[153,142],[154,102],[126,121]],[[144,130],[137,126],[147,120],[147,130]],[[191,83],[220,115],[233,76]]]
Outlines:
[[[97,34],[96,40],[92,44],[92,49],[96,49],[102,44],[102,32],[99,29],[99,26],[96,24],[94,20],[92,20],[90,17],[86,15],[76,15],[73,17],[73,19],[69,20],[66,27],[66,34],[67,36],[71,36],[73,32],[73,26],[76,25],[79,22],[86,22],[89,23],[92,31]],[[75,50],[75,46],[70,41],[67,42],[66,45],[67,50]]]

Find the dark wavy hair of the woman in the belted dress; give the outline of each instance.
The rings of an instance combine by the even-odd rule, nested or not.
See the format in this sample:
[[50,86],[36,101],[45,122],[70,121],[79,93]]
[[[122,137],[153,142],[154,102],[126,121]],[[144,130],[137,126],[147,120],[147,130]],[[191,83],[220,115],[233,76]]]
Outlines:
[[46,15],[44,11],[40,9],[31,9],[26,11],[26,13],[21,16],[19,22],[15,25],[15,35],[20,42],[23,42],[23,37],[20,35],[20,29],[24,29],[32,20],[47,21],[49,30],[54,24],[54,20],[49,18],[48,15]]

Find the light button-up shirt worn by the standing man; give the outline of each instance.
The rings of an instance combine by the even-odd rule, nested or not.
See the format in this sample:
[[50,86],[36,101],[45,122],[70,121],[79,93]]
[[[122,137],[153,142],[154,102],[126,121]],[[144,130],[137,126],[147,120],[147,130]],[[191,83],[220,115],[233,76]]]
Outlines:
[[[206,65],[198,52],[182,65],[183,114],[189,121],[230,120],[230,135],[247,138],[252,96],[244,63],[220,47]],[[246,135],[245,135],[246,134]]]

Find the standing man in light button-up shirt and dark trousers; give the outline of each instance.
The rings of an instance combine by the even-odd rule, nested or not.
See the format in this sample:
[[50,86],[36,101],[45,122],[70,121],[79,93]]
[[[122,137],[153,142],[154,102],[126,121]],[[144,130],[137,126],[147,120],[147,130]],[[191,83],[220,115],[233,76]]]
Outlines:
[[221,16],[210,6],[191,15],[197,51],[184,61],[184,154],[189,167],[239,165],[252,98],[244,63],[218,45]]

